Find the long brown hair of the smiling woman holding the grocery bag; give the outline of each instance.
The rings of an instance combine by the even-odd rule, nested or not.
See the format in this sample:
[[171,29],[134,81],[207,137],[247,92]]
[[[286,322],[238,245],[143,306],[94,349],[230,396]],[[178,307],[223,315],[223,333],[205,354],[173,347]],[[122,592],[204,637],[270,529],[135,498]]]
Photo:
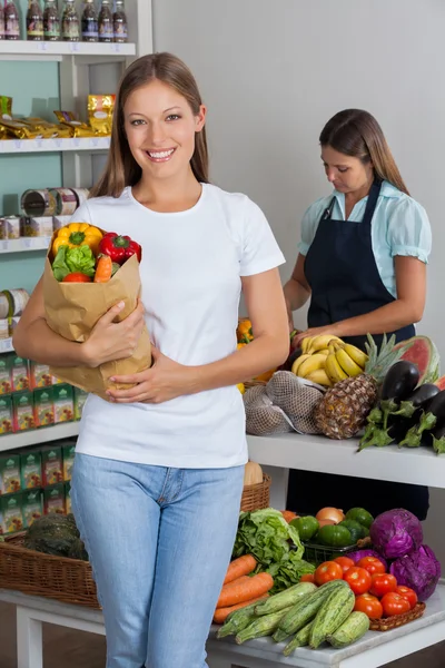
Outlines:
[[[123,124],[123,107],[130,94],[154,79],[171,86],[186,98],[197,116],[201,102],[198,85],[188,67],[172,53],[150,53],[135,60],[123,72],[116,96],[111,143],[106,169],[92,188],[90,197],[119,197],[126,186],[135,186],[141,168],[131,155]],[[206,128],[195,135],[195,151],[190,160],[198,181],[208,183],[208,151]]]

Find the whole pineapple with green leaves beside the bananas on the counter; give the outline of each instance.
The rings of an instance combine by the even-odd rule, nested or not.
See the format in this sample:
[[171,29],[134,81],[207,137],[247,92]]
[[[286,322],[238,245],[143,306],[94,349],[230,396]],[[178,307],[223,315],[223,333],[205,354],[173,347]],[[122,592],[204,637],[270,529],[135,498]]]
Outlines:
[[350,439],[364,426],[386,372],[402,356],[403,350],[394,350],[394,335],[389,341],[384,335],[379,352],[369,334],[368,342],[364,373],[336,383],[315,407],[317,428],[329,439]]

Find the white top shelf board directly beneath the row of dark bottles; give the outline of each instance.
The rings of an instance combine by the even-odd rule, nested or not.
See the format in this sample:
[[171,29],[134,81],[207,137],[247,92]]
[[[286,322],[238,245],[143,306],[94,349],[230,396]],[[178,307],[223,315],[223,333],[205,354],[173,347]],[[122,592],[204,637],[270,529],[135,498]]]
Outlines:
[[26,41],[2,40],[0,56],[135,56],[134,43],[98,43],[98,42],[62,42],[62,41]]

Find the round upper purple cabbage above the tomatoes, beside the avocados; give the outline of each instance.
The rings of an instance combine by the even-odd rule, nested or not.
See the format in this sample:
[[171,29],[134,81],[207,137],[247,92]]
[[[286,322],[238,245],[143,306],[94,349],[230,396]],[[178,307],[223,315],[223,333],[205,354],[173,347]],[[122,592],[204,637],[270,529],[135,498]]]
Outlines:
[[398,559],[417,550],[424,540],[419,520],[402,508],[377,515],[369,537],[376,550],[387,559]]

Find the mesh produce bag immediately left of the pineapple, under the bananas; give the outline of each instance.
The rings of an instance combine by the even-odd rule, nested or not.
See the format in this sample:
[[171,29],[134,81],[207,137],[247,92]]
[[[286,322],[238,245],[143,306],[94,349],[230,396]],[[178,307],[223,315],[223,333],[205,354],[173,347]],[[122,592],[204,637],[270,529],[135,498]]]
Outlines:
[[277,371],[266,385],[266,394],[281,409],[294,429],[303,434],[319,434],[314,420],[314,409],[323,397],[323,392],[306,385],[290,371]]

